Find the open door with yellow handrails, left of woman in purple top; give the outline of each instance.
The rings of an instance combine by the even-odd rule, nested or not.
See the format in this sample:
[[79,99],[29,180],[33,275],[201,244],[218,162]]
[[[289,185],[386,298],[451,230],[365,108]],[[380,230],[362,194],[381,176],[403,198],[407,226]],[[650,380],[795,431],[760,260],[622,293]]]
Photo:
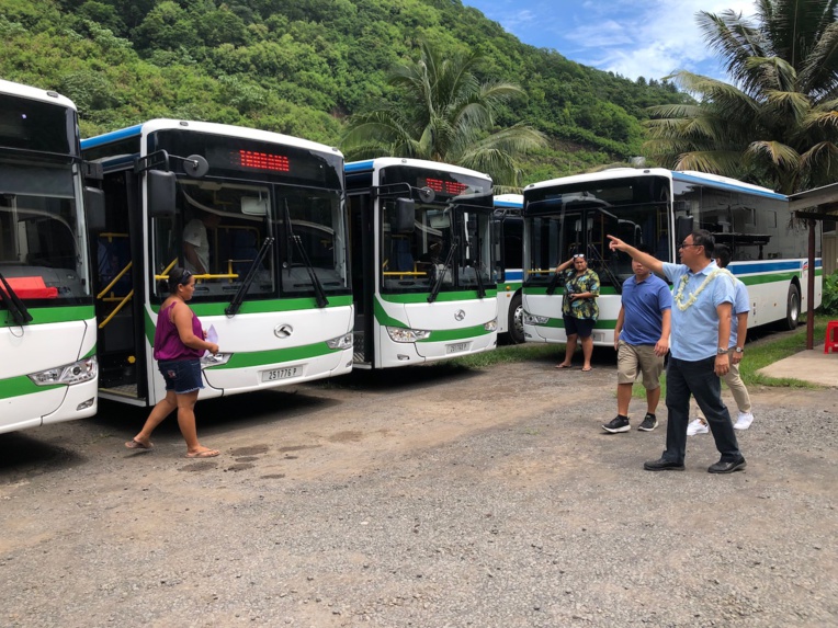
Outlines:
[[104,225],[90,231],[100,395],[145,406],[143,230],[139,181],[129,170],[106,172]]

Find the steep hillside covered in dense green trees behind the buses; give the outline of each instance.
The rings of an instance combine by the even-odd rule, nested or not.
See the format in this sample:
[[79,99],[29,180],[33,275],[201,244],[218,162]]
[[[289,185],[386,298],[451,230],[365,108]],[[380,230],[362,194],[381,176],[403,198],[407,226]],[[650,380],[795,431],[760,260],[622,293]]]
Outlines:
[[0,78],[71,98],[84,137],[167,116],[337,145],[420,38],[477,47],[486,77],[524,88],[497,122],[551,138],[526,181],[639,155],[644,109],[686,98],[524,45],[460,0],[0,0]]

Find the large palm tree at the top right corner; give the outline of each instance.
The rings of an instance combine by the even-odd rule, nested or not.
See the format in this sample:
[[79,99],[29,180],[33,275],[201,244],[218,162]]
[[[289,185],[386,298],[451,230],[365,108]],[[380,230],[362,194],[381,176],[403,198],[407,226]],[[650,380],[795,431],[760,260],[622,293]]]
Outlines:
[[734,84],[678,71],[693,104],[650,107],[645,151],[676,170],[715,172],[790,194],[838,179],[838,0],[759,0],[700,12]]

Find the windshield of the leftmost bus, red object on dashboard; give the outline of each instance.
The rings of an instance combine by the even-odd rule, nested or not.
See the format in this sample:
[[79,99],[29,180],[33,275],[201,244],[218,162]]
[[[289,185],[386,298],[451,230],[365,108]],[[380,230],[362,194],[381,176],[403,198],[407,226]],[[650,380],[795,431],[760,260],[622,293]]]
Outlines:
[[91,302],[80,196],[69,157],[0,152],[0,273],[30,306]]

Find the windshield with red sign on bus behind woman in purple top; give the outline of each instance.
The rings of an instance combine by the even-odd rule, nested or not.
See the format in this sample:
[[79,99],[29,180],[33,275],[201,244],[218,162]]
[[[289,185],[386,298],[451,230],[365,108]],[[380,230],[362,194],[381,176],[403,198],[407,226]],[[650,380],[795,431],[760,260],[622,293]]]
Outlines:
[[183,264],[199,277],[195,301],[228,300],[251,269],[248,299],[310,297],[315,281],[327,295],[349,294],[339,157],[247,138],[157,135],[158,149],[201,155],[210,172],[179,175],[177,217],[152,219],[156,274]]

